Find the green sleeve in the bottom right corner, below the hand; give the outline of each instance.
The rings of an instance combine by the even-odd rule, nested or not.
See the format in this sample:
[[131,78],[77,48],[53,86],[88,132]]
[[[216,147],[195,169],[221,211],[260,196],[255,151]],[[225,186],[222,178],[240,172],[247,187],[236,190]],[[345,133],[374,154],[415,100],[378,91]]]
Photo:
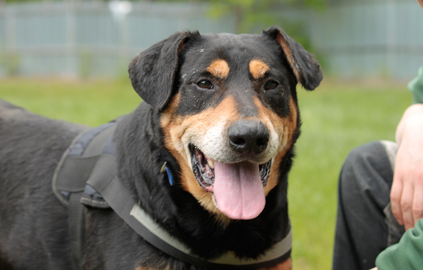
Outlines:
[[376,258],[378,270],[421,270],[423,268],[423,219],[408,229],[398,244]]

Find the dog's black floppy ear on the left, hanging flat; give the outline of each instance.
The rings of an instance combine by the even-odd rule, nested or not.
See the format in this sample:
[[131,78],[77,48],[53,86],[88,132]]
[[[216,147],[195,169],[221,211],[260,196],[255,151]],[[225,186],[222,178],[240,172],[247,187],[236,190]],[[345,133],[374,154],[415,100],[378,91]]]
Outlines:
[[154,109],[163,110],[172,96],[179,53],[190,36],[189,32],[176,33],[141,52],[129,64],[132,87]]

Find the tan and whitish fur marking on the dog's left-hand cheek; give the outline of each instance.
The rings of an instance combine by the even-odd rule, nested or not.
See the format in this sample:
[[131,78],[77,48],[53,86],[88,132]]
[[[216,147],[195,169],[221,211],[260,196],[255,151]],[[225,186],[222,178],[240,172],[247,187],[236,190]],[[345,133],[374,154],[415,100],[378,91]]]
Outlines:
[[220,212],[213,203],[210,192],[206,192],[197,182],[192,173],[191,155],[186,148],[190,140],[187,136],[195,134],[204,136],[215,123],[224,122],[226,119],[237,119],[239,115],[235,109],[235,101],[229,96],[217,107],[206,110],[193,116],[174,116],[173,112],[179,103],[180,95],[177,94],[168,108],[163,112],[160,120],[165,135],[165,145],[168,151],[178,161],[181,168],[182,187],[191,193],[198,202],[209,212],[216,214],[216,219],[224,224],[231,219]]

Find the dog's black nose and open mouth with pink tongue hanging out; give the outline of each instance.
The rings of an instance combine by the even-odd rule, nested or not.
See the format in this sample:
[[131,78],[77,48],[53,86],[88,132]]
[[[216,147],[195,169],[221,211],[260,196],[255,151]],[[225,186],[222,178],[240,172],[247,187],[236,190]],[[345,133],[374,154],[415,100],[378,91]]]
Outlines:
[[269,180],[271,160],[264,163],[252,160],[264,154],[269,137],[269,130],[262,122],[238,120],[227,130],[227,149],[236,161],[212,160],[198,147],[190,146],[192,170],[198,183],[213,193],[219,211],[231,219],[253,219],[265,207],[264,187]]

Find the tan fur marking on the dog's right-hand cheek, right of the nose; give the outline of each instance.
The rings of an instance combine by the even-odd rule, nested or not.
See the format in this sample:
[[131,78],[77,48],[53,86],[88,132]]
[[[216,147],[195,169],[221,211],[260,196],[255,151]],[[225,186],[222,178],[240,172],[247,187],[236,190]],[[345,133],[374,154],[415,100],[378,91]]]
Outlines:
[[277,154],[273,157],[272,166],[270,167],[269,180],[264,188],[267,196],[279,182],[279,164],[292,145],[292,137],[297,129],[297,107],[291,97],[289,101],[290,115],[288,117],[281,118],[273,111],[267,109],[257,97],[254,97],[254,103],[259,111],[259,119],[268,128],[273,127],[279,136]]

